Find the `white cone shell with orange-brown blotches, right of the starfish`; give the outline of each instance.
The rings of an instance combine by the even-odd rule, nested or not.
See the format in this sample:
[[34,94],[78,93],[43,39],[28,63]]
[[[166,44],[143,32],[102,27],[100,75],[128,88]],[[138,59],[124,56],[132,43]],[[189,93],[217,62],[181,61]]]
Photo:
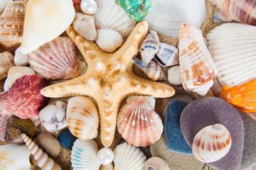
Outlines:
[[[201,30],[183,24],[179,38],[179,62],[183,88],[206,95],[212,79],[217,74],[216,66],[208,51]],[[204,85],[204,86],[203,86]]]

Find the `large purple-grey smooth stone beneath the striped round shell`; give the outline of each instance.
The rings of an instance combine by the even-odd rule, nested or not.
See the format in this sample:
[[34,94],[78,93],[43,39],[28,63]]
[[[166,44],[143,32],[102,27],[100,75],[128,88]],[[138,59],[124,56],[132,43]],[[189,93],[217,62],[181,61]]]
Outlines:
[[189,103],[181,113],[181,132],[191,147],[196,134],[208,125],[220,123],[228,129],[232,145],[228,154],[217,162],[208,163],[219,170],[239,169],[242,162],[245,129],[238,111],[221,98],[207,97]]

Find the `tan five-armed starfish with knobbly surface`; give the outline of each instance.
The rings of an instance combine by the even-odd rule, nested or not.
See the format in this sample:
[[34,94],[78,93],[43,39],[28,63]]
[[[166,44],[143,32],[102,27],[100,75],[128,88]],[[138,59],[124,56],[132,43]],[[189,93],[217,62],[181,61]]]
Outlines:
[[100,137],[105,147],[114,140],[117,113],[121,102],[130,95],[147,95],[156,98],[173,96],[175,90],[163,83],[138,77],[133,72],[132,58],[146,37],[148,24],[141,21],[132,30],[124,45],[114,53],[102,51],[93,41],[85,40],[73,26],[67,29],[87,62],[87,72],[80,77],[47,86],[41,94],[51,98],[91,96],[97,101],[100,115]]

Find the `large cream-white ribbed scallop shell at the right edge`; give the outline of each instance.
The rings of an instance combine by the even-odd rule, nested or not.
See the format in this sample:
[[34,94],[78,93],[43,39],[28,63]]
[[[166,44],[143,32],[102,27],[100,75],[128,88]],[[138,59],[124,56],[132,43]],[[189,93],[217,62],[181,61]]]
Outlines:
[[208,50],[223,86],[237,86],[256,78],[256,28],[224,23],[207,35]]

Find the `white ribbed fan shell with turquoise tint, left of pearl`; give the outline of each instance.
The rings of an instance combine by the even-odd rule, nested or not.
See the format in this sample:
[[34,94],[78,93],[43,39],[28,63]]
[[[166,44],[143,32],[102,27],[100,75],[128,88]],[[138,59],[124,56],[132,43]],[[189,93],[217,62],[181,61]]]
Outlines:
[[75,140],[71,151],[73,169],[100,169],[100,160],[97,159],[97,152],[97,143],[94,140]]

